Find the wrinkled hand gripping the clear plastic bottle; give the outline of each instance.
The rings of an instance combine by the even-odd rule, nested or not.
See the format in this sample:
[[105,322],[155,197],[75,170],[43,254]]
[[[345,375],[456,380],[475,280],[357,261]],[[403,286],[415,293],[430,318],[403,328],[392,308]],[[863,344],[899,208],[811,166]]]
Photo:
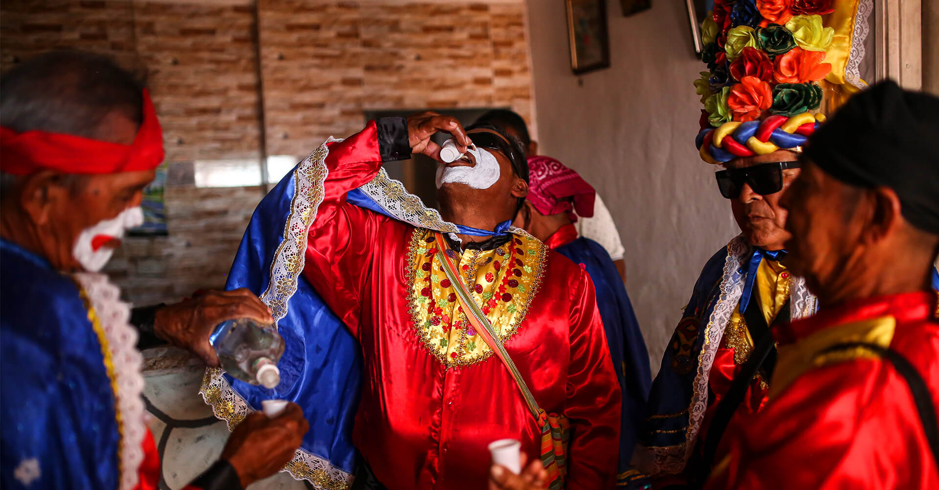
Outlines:
[[251,318],[257,323],[274,322],[268,307],[250,290],[208,291],[192,299],[170,304],[157,310],[153,332],[162,340],[192,351],[212,367],[219,357],[208,342],[212,329],[226,321]]

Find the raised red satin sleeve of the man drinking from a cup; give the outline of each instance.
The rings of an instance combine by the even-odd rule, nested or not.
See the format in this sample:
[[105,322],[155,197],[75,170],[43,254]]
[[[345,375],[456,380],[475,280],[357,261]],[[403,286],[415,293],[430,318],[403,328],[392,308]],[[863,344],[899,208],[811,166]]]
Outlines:
[[[346,194],[374,178],[381,167],[375,121],[330,145],[322,202],[312,210],[303,276],[353,334],[359,334],[360,294],[368,279],[377,229],[387,219],[346,203]],[[315,203],[314,203],[315,204]]]

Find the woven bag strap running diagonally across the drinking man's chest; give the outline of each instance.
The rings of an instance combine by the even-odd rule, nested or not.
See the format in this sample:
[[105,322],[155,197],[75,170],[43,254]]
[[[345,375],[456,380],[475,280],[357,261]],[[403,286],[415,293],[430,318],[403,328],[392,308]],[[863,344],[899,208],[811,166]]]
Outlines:
[[447,275],[447,279],[450,280],[450,283],[454,284],[456,298],[459,299],[460,306],[463,307],[463,313],[467,315],[467,319],[469,319],[469,323],[472,324],[473,329],[476,329],[479,336],[483,337],[486,345],[489,345],[489,348],[496,354],[496,357],[502,361],[502,364],[505,364],[505,367],[509,370],[509,374],[516,380],[518,390],[521,391],[522,397],[525,398],[525,403],[528,404],[531,415],[534,416],[536,421],[539,420],[539,414],[542,412],[542,409],[538,406],[538,403],[535,402],[534,395],[531,394],[531,390],[529,390],[528,385],[525,384],[525,380],[522,379],[521,373],[518,372],[516,363],[509,357],[509,353],[505,350],[505,347],[496,340],[496,335],[492,329],[492,324],[489,323],[489,319],[485,317],[479,305],[469,296],[467,286],[456,272],[453,261],[450,260],[450,257],[448,257],[446,253],[443,253],[443,247],[446,241],[444,241],[439,232],[436,235],[437,242],[440,244],[437,258],[443,265],[443,272]]

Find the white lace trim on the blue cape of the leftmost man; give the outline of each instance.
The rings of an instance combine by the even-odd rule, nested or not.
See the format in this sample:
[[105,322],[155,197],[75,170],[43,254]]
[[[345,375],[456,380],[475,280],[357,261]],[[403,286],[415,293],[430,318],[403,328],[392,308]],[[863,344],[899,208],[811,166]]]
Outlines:
[[137,350],[137,330],[128,323],[130,305],[120,300],[120,290],[104,274],[83,272],[73,277],[81,285],[87,301],[97,316],[111,357],[108,366],[115,390],[115,415],[120,432],[120,486],[131,490],[137,485],[140,464],[144,461],[144,375],[143,357]]

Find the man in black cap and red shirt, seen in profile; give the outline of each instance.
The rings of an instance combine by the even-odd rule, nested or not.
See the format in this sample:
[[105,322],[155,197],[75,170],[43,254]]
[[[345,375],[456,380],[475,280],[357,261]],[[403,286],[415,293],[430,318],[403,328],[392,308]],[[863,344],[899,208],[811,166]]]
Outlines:
[[769,402],[708,488],[939,488],[939,99],[876,84],[803,160],[786,249],[820,311],[777,329]]

